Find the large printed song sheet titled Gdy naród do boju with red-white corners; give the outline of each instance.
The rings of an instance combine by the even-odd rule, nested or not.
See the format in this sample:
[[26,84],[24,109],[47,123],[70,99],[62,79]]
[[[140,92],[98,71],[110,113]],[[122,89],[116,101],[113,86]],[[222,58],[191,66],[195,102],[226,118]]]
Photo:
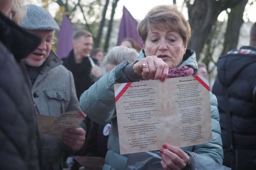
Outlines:
[[120,154],[212,140],[208,74],[115,84]]

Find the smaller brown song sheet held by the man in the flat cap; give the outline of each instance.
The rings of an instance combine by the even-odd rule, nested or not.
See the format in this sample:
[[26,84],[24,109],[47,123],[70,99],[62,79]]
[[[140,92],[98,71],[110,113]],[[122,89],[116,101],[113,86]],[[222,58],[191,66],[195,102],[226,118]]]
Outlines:
[[70,111],[59,117],[36,114],[40,135],[51,135],[61,138],[64,129],[77,128],[85,118],[82,111]]

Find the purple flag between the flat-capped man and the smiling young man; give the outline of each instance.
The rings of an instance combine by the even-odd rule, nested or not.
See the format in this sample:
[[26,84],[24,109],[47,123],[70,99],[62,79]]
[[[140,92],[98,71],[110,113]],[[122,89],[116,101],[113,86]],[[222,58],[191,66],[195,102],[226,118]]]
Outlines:
[[60,58],[67,57],[69,52],[73,49],[73,33],[74,28],[71,22],[68,20],[68,17],[63,14],[56,50],[56,54]]

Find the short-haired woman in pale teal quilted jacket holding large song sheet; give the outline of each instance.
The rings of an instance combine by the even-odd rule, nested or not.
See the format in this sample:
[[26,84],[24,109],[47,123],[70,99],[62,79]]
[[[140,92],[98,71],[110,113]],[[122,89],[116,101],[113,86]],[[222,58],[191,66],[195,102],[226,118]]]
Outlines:
[[[157,6],[150,10],[138,25],[144,43],[138,61],[123,62],[108,72],[80,97],[82,110],[100,124],[112,122],[108,152],[103,169],[125,169],[127,155],[119,154],[117,119],[115,114],[114,83],[140,79],[161,79],[193,75],[197,71],[195,52],[187,49],[190,26],[181,12],[173,6]],[[206,162],[222,164],[219,113],[216,97],[211,93],[212,142],[178,148],[163,144],[160,149],[164,169],[182,169],[189,156]]]

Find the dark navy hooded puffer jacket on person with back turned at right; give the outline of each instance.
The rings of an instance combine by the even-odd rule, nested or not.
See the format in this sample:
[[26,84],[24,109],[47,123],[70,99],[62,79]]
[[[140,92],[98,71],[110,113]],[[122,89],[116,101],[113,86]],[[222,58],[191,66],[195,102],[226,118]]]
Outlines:
[[229,94],[234,148],[256,149],[256,105],[253,103],[253,90],[256,86],[256,49],[248,46],[240,50],[252,50],[255,54],[231,53],[221,56],[217,63],[218,76],[212,89],[218,100],[224,162],[228,159],[225,151],[229,148],[224,86],[227,87]]

